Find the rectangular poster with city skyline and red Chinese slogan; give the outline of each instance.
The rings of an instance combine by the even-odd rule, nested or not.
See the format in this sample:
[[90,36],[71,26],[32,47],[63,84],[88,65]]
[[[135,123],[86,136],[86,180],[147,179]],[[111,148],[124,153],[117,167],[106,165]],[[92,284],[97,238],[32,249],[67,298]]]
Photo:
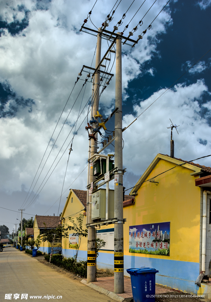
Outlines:
[[129,226],[129,253],[170,256],[170,222]]

